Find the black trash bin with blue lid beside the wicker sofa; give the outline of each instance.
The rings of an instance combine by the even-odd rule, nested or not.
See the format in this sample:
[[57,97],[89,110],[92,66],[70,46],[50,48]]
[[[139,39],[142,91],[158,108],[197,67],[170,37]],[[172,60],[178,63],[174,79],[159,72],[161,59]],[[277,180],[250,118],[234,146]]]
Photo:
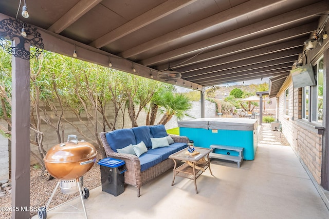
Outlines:
[[118,196],[124,192],[124,161],[106,157],[98,162],[101,168],[102,191]]

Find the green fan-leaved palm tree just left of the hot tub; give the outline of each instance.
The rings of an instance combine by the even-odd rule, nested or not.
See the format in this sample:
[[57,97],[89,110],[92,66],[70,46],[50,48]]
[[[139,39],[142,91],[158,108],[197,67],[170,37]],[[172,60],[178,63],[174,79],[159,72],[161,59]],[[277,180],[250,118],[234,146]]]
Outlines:
[[[173,115],[177,117],[178,120],[181,120],[185,116],[190,116],[186,114],[186,111],[192,108],[192,103],[190,98],[183,93],[172,93],[166,92],[162,96],[163,106],[161,111],[164,112],[160,122],[158,124],[165,125],[167,124]],[[191,117],[191,116],[190,116]]]

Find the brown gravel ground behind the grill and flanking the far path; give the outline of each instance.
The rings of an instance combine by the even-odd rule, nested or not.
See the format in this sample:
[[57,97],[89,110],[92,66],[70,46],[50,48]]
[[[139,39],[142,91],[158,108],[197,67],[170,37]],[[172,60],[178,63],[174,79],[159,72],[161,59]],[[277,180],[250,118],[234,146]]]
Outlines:
[[[268,124],[263,124],[263,127],[258,135],[258,142],[263,141],[262,130],[267,125]],[[281,134],[281,132],[272,131],[272,133],[275,136],[276,142],[280,142],[281,145],[286,145],[286,146],[289,145],[286,138],[284,137],[283,134]],[[98,152],[97,158],[101,159],[100,152]],[[34,210],[35,207],[41,207],[46,205],[58,181],[55,179],[46,181],[46,177],[42,174],[42,171],[40,169],[35,169],[31,166],[30,170],[31,170],[30,206],[33,207]],[[92,169],[90,169],[84,175],[83,187],[88,188],[90,191],[100,185],[101,185],[100,168],[98,165],[94,165]],[[60,189],[58,189],[50,203],[49,208],[53,208],[57,205],[60,205],[76,196],[79,196],[79,193],[66,195],[63,194],[60,191]],[[0,197],[0,207],[7,207],[7,209],[11,207],[10,193],[7,193],[7,195],[4,197]],[[31,216],[35,214],[37,214],[36,211],[30,211]],[[11,218],[11,212],[2,211],[2,209],[0,209],[0,218]]]

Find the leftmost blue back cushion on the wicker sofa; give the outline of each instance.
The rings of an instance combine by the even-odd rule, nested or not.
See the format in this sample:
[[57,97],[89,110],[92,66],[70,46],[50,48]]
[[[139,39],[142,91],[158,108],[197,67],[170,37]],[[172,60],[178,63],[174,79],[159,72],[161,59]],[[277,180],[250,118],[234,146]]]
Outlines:
[[136,145],[136,139],[132,129],[114,130],[106,133],[105,136],[107,143],[114,152],[118,152],[117,148],[124,148],[130,144]]

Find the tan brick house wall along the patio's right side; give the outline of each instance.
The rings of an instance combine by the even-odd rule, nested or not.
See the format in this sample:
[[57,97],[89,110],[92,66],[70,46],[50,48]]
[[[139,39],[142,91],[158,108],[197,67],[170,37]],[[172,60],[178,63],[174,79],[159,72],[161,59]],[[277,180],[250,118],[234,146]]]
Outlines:
[[[289,89],[289,116],[284,115],[284,91],[287,88]],[[314,127],[300,122],[302,118],[302,89],[294,89],[291,77],[288,77],[278,95],[279,121],[282,123],[283,134],[317,183],[320,184],[322,135],[318,134]]]

